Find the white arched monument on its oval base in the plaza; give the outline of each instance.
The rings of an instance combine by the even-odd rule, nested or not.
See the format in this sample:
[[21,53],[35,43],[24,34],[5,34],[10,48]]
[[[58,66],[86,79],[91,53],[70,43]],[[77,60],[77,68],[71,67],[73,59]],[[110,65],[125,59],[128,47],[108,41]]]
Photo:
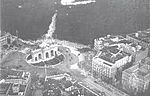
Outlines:
[[52,67],[62,63],[65,59],[63,52],[59,49],[60,46],[48,47],[48,48],[40,48],[33,50],[26,58],[28,64],[44,68]]

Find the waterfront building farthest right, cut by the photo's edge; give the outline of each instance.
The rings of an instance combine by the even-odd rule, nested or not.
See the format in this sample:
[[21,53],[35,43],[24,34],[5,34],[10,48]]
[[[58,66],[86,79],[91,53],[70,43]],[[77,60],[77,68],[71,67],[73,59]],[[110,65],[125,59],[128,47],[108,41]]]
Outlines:
[[150,30],[127,34],[126,38],[136,44],[140,44],[145,48],[150,48]]

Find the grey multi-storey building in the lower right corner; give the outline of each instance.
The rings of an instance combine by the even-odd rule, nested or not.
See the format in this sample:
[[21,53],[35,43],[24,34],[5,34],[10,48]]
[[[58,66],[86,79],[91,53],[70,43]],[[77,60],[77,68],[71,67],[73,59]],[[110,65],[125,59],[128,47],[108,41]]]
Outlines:
[[122,73],[123,88],[128,92],[144,92],[149,88],[149,83],[150,65],[148,64],[135,64]]

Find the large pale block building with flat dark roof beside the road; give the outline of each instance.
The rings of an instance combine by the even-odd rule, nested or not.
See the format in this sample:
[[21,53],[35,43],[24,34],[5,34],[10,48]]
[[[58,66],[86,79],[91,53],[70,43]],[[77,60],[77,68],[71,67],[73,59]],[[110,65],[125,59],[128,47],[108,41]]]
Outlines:
[[118,46],[104,47],[92,59],[94,76],[115,78],[117,69],[131,62],[131,55],[118,49]]

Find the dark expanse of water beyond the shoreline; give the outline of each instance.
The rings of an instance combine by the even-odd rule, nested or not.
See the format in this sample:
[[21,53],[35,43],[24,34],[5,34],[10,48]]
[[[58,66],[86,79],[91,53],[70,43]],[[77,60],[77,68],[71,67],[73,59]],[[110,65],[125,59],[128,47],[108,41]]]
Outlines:
[[57,37],[84,44],[99,36],[150,27],[150,0],[96,0],[72,8],[60,5],[59,0],[2,0],[2,30],[12,34],[18,30],[23,39],[39,38],[55,10]]

